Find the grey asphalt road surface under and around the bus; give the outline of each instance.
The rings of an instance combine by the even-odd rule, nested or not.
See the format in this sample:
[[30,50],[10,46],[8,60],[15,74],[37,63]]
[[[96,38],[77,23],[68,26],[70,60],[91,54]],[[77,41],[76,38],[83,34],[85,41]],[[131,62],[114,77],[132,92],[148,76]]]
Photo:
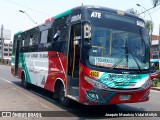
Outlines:
[[[43,90],[39,87],[24,89],[21,81],[14,78],[10,73],[10,66],[0,65],[0,111],[39,111],[42,112],[42,118],[32,118],[39,120],[83,120],[87,118],[94,119],[116,119],[116,120],[158,120],[160,117],[110,117],[121,113],[122,111],[136,111],[143,114],[147,111],[153,113],[160,112],[160,92],[151,90],[150,100],[143,103],[121,104],[113,106],[84,106],[78,103],[73,103],[70,108],[65,108],[52,99],[52,93]],[[45,112],[47,111],[47,112]],[[57,112],[54,112],[57,111]],[[159,112],[156,112],[159,111]],[[107,114],[108,113],[108,114]],[[105,116],[106,114],[106,116]],[[142,114],[142,115],[143,115]],[[48,115],[50,117],[43,117]],[[92,115],[92,116],[90,116]],[[104,117],[102,117],[104,115]],[[1,119],[1,118],[0,118]],[[2,118],[7,119],[7,118]],[[10,120],[11,118],[9,118]],[[17,117],[17,119],[22,119]],[[16,120],[17,120],[16,119]],[[27,119],[27,118],[23,118]],[[29,118],[30,119],[30,118]],[[8,119],[7,119],[8,120]]]

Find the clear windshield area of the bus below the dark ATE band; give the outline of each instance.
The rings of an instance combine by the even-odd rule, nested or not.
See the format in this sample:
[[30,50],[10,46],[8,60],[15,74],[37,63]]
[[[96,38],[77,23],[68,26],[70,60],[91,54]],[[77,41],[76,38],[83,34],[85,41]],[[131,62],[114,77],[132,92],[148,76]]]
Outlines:
[[135,30],[139,32],[92,27],[90,64],[110,69],[148,69],[148,39],[140,29]]

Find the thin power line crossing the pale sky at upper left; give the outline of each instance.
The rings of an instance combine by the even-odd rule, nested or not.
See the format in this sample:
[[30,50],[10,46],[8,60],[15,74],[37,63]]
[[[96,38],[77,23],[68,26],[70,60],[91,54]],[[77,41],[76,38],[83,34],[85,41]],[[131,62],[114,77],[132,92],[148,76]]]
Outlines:
[[18,6],[21,6],[21,7],[24,7],[24,8],[30,9],[30,10],[33,10],[33,11],[35,11],[35,12],[38,12],[38,13],[41,13],[41,14],[44,14],[44,15],[47,15],[47,16],[51,16],[51,15],[49,15],[49,14],[45,13],[45,12],[42,12],[42,11],[39,11],[39,10],[36,10],[36,9],[30,8],[30,7],[28,7],[28,6],[25,6],[25,5],[22,5],[22,4],[19,4],[19,3],[13,2],[13,1],[11,1],[11,0],[5,0],[5,1],[6,1],[6,2],[9,2],[9,3],[11,3],[11,4],[15,4],[15,5],[18,5]]

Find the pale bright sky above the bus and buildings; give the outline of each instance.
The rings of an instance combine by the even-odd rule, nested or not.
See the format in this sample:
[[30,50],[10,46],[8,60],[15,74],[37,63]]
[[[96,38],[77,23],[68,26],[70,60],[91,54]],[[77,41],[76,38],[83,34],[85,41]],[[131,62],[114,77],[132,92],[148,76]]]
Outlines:
[[[133,8],[139,13],[153,7],[152,0],[0,0],[0,27],[3,24],[5,29],[11,30],[11,39],[13,39],[16,32],[36,26],[34,22],[42,24],[47,18],[80,6],[82,3],[123,11]],[[140,4],[145,9],[136,4]],[[34,22],[19,10],[25,11]],[[153,34],[159,35],[160,5],[148,12],[141,14],[141,17],[145,20],[152,19]]]

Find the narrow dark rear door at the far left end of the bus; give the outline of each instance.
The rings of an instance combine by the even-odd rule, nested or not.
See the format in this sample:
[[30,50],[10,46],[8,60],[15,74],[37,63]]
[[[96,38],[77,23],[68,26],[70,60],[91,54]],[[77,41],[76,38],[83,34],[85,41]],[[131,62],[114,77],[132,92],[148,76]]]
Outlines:
[[19,52],[20,52],[20,39],[17,39],[15,41],[15,76],[18,76]]

